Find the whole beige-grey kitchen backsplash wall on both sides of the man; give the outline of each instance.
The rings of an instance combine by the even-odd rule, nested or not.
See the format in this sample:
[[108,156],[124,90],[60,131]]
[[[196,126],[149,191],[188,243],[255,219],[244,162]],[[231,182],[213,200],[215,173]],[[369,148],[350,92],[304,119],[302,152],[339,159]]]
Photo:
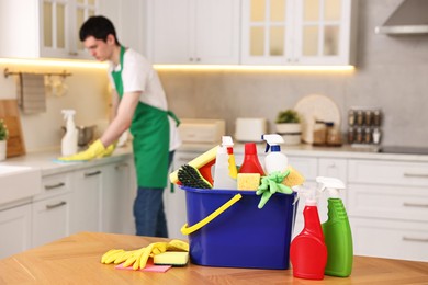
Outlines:
[[[305,95],[323,94],[337,103],[343,135],[351,106],[376,106],[385,117],[383,145],[426,146],[428,35],[374,34],[374,27],[401,1],[358,0],[354,71],[159,71],[170,109],[185,118],[224,118],[226,132],[233,135],[237,117],[266,117],[273,130],[280,110],[293,107]],[[0,70],[5,67],[14,69],[0,64]],[[78,124],[93,124],[108,117],[105,71],[76,68],[69,71],[72,76],[66,79],[65,96],[48,98],[46,113],[22,115],[27,151],[59,146],[61,109],[76,109]],[[0,99],[15,98],[15,92],[14,79],[0,77]]]

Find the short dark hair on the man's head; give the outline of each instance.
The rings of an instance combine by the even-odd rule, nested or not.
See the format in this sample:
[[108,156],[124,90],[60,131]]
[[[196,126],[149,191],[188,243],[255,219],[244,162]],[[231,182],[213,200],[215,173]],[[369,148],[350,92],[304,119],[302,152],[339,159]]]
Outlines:
[[108,35],[113,35],[119,46],[120,43],[116,36],[116,30],[114,30],[113,23],[102,15],[90,16],[80,27],[79,38],[81,42],[89,36],[93,36],[97,39],[106,42]]

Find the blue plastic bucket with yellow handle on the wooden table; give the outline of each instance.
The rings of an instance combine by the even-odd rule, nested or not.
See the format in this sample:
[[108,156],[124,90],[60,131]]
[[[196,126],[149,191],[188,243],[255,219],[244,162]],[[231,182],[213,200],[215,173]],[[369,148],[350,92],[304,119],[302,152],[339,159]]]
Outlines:
[[[289,269],[290,242],[297,208],[297,203],[293,204],[295,194],[277,193],[259,209],[260,196],[255,191],[181,189],[185,191],[188,224],[196,226],[209,217],[209,223],[205,219],[202,227],[193,232],[188,230],[191,232],[192,263],[222,267]],[[224,206],[226,203],[228,205]],[[210,217],[216,212],[222,213]],[[182,228],[183,233],[185,228],[187,225]]]

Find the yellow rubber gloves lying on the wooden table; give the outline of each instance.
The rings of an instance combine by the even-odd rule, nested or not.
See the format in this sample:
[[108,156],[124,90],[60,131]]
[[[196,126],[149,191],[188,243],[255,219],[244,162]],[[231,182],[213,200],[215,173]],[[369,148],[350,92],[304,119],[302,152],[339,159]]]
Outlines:
[[101,263],[123,263],[123,267],[133,266],[133,270],[139,270],[146,267],[147,260],[150,256],[153,258],[154,255],[166,251],[189,252],[189,243],[174,239],[169,242],[154,242],[148,244],[146,248],[137,250],[126,251],[123,249],[112,249],[101,256]]

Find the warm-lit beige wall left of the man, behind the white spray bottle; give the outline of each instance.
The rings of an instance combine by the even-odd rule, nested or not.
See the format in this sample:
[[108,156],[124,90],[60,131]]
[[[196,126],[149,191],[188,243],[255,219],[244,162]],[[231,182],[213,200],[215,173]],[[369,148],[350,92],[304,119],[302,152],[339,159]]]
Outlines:
[[[77,67],[30,67],[22,65],[0,64],[0,71],[61,72],[67,70],[72,76],[65,83],[68,92],[60,98],[46,98],[46,112],[23,114],[21,125],[27,152],[58,148],[63,136],[63,109],[75,109],[78,125],[98,124],[108,118],[109,88],[106,71],[97,68]],[[16,99],[15,76],[0,77],[0,99]],[[58,152],[59,153],[59,152]]]

